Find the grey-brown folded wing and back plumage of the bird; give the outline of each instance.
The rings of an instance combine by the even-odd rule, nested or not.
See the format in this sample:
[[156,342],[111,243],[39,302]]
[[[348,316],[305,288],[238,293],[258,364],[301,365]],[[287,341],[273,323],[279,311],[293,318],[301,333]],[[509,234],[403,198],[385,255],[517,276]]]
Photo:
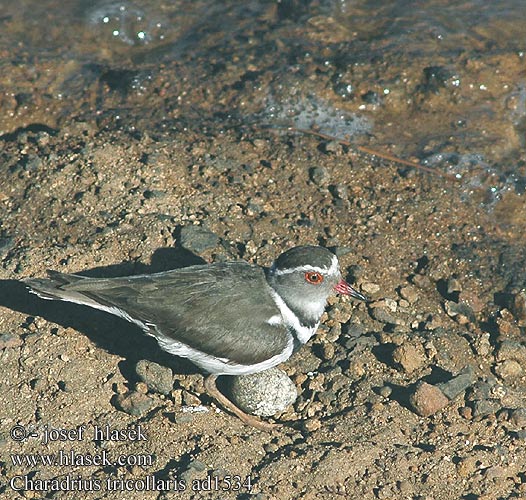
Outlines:
[[[67,275],[55,275],[67,279]],[[128,278],[62,284],[106,307],[117,307],[152,333],[239,364],[283,352],[290,333],[267,320],[279,314],[261,268],[245,262],[192,266]],[[89,305],[89,304],[88,304]]]

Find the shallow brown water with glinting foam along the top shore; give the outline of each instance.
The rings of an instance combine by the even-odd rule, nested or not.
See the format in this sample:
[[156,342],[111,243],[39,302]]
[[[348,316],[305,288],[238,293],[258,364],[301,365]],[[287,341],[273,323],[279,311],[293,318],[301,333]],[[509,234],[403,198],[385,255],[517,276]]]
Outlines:
[[493,206],[524,191],[525,21],[518,0],[26,0],[0,17],[0,131],[109,109],[155,128],[156,94],[195,128],[313,127],[413,158]]

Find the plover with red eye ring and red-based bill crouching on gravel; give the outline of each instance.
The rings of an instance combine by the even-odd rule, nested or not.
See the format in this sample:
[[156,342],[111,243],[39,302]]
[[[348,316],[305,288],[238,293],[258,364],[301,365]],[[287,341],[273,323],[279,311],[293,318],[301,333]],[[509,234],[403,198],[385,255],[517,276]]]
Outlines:
[[212,398],[266,431],[276,424],[243,412],[217,389],[217,377],[286,361],[314,335],[330,295],[368,300],[342,279],[334,253],[312,245],[290,248],[268,268],[237,260],[114,278],[48,270],[48,278],[24,283],[42,299],[81,304],[137,325],[161,349],[208,374],[204,385]]

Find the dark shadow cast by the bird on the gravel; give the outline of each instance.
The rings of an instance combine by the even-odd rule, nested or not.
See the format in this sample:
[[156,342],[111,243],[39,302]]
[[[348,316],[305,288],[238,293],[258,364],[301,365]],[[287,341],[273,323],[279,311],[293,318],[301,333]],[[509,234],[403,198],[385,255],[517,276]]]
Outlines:
[[[78,274],[97,278],[151,274],[196,264],[206,264],[201,257],[182,248],[159,248],[146,265],[122,262],[106,267],[84,270]],[[42,273],[44,274],[44,273]],[[27,314],[31,320],[41,316],[64,328],[73,328],[85,334],[97,346],[124,360],[119,363],[122,375],[129,381],[136,380],[134,367],[141,359],[148,359],[171,367],[176,373],[195,373],[196,368],[186,359],[162,351],[157,342],[132,323],[117,316],[87,306],[44,300],[29,292],[17,280],[0,280],[0,306]]]

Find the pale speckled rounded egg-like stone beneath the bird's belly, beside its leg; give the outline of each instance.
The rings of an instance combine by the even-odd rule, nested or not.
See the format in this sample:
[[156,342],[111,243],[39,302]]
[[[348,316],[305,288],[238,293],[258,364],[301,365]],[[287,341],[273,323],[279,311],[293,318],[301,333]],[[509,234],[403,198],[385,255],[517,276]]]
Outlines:
[[296,386],[279,368],[234,377],[232,401],[243,411],[269,417],[282,412],[296,401]]

